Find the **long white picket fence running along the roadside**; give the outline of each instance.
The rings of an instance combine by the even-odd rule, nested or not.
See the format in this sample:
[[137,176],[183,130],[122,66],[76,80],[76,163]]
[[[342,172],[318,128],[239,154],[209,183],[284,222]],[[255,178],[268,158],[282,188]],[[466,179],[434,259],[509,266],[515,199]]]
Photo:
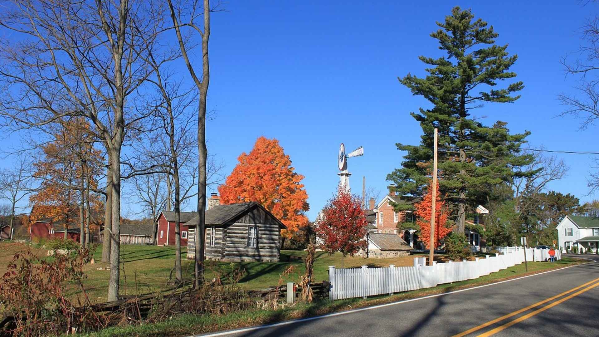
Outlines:
[[[438,284],[479,278],[524,262],[524,248],[505,247],[502,254],[486,255],[476,261],[436,263],[426,266],[426,258],[414,258],[413,267],[389,267],[337,269],[329,267],[329,299],[349,299],[380,294],[399,293]],[[528,248],[527,261],[544,261],[549,258],[549,249]],[[556,258],[561,254],[556,251]]]

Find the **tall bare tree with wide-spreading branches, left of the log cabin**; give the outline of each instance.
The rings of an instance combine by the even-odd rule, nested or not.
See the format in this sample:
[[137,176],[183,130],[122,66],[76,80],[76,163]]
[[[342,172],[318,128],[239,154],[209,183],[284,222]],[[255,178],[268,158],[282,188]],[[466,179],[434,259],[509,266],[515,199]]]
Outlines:
[[119,294],[121,152],[126,130],[146,116],[134,109],[140,86],[152,73],[139,57],[141,41],[154,43],[159,22],[149,18],[165,4],[123,0],[13,0],[0,25],[20,37],[3,41],[0,53],[4,125],[43,128],[83,116],[108,154],[111,183],[108,300]]

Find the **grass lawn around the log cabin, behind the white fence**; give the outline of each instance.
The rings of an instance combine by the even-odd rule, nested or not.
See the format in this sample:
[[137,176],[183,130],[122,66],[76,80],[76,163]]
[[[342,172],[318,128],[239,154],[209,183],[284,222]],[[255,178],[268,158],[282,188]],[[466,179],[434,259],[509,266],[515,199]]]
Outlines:
[[[46,249],[29,246],[40,258],[46,258]],[[14,253],[26,249],[23,243],[0,242],[0,272]],[[294,266],[293,272],[283,278],[283,282],[298,282],[299,275],[304,273],[305,251],[281,251],[280,262],[206,262],[206,278],[213,279],[217,276],[226,281],[234,270],[244,270],[239,284],[247,289],[262,289],[279,284],[280,275],[290,266]],[[193,276],[193,261],[186,260],[186,250],[181,252],[183,256],[183,278],[191,281]],[[98,246],[93,254],[96,263],[87,264],[84,271],[87,279],[84,282],[87,296],[92,302],[105,302],[108,292],[108,276],[110,271],[105,270],[107,263],[102,263],[102,246]],[[145,245],[122,245],[120,246],[121,272],[120,272],[120,294],[145,294],[171,289],[167,284],[171,269],[174,266],[175,248],[171,246],[145,246]],[[341,255],[329,256],[326,252],[317,252],[314,261],[314,276],[317,282],[328,280],[328,267],[341,266]],[[443,261],[443,257],[437,257]],[[396,266],[412,266],[414,256],[398,258],[361,258],[345,257],[345,267],[386,267],[389,264]],[[101,267],[104,270],[98,270]],[[80,291],[74,290],[74,296]]]

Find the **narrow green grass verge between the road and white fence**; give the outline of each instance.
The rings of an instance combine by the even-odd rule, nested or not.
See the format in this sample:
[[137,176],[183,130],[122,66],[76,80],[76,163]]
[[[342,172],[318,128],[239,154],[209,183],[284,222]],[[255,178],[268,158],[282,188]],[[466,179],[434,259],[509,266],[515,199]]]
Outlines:
[[314,303],[297,303],[297,305],[292,308],[287,307],[271,311],[253,309],[235,312],[228,315],[184,314],[171,317],[167,321],[162,321],[159,323],[144,324],[141,326],[110,327],[108,329],[101,330],[100,332],[90,333],[84,336],[180,336],[192,333],[207,333],[219,330],[235,329],[238,327],[275,323],[278,321],[294,318],[311,317],[329,312],[337,312],[381,303],[395,302],[398,300],[412,299],[429,294],[447,293],[449,291],[474,287],[476,285],[489,284],[492,282],[502,281],[504,279],[516,278],[518,276],[565,267],[576,263],[579,262],[567,257],[561,261],[556,261],[555,263],[531,262],[528,263],[528,273],[525,271],[524,264],[519,264],[477,279],[455,282],[452,284],[442,284],[434,288],[407,291],[401,294],[395,294],[393,296],[382,295],[369,297],[368,299],[356,298],[336,300],[334,302],[329,300],[321,300]]

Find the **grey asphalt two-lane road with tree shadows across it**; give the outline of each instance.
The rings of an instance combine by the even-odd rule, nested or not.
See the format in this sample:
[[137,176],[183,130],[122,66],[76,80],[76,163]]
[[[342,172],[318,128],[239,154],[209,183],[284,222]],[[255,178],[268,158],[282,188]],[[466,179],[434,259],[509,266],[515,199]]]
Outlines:
[[461,336],[599,336],[599,257],[486,287],[211,336],[435,337],[473,328]]

